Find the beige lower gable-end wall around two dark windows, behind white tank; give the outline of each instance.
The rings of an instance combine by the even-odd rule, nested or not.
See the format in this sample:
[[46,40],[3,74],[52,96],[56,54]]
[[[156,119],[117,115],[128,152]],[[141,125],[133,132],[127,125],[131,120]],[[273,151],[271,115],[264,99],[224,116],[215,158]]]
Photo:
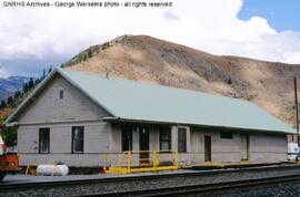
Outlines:
[[[84,154],[71,154],[72,126],[84,126]],[[33,141],[39,142],[40,127],[50,128],[50,154],[39,154],[39,148],[32,146]],[[110,124],[104,122],[20,126],[18,132],[20,164],[24,166],[28,163],[38,165],[63,162],[70,166],[103,165],[107,162],[104,155],[114,152],[110,143],[113,137],[110,131]]]

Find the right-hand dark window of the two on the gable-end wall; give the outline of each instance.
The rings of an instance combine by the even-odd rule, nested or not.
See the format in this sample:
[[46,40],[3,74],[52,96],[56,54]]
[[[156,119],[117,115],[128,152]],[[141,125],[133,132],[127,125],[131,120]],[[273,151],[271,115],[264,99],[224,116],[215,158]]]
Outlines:
[[83,153],[83,126],[72,127],[72,153]]

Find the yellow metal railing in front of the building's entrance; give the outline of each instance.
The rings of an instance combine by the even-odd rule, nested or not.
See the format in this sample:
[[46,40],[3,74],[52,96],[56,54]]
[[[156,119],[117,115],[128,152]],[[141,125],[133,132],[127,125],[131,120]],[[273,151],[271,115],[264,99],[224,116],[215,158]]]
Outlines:
[[118,155],[117,165],[104,173],[129,174],[178,169],[178,151],[127,151]]

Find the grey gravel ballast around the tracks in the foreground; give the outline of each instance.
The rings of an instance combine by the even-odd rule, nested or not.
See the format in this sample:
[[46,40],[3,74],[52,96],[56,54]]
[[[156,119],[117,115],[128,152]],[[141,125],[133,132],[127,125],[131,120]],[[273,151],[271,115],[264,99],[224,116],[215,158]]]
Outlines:
[[[287,164],[242,169],[178,170],[134,175],[71,175],[66,177],[17,175],[6,177],[4,183],[0,184],[0,196],[18,196],[20,194],[27,196],[117,195],[132,191],[137,196],[141,194],[159,195],[160,189],[204,187],[211,184],[218,185],[289,175],[300,176],[300,165]],[[16,189],[16,187],[19,187],[19,189]],[[143,193],[146,190],[147,193]],[[288,186],[287,190],[289,190]],[[237,193],[236,195],[241,194]]]

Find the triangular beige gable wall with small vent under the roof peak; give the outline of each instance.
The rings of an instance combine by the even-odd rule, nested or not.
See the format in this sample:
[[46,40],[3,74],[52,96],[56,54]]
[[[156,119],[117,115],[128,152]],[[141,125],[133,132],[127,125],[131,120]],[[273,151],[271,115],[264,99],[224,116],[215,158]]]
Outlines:
[[[63,100],[59,91],[63,90]],[[20,124],[56,123],[78,120],[99,120],[109,114],[61,76],[42,91],[28,110],[19,117]]]

